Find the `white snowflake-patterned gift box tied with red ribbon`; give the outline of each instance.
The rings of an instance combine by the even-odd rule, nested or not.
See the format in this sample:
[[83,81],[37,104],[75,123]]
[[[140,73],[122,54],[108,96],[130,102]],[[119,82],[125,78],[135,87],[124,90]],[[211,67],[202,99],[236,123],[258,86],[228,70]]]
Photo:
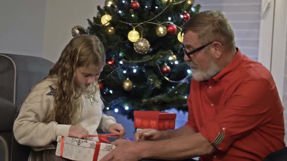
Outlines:
[[56,156],[73,161],[99,161],[116,147],[111,144],[64,136],[58,136],[57,142]]

